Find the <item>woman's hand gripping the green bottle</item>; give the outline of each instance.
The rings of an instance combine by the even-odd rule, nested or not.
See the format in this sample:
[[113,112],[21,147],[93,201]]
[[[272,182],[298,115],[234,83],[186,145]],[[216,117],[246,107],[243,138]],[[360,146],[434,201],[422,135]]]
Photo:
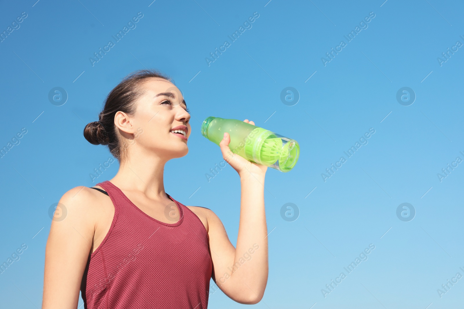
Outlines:
[[[249,121],[248,119],[244,120],[246,123],[251,125],[255,125],[253,121]],[[238,154],[233,153],[229,148],[229,143],[231,142],[231,138],[229,133],[224,133],[224,138],[219,143],[219,147],[222,151],[222,157],[226,160],[228,164],[230,164],[234,170],[237,171],[240,177],[248,176],[249,174],[253,176],[264,176],[267,170],[267,166],[250,162],[245,158],[242,158]]]

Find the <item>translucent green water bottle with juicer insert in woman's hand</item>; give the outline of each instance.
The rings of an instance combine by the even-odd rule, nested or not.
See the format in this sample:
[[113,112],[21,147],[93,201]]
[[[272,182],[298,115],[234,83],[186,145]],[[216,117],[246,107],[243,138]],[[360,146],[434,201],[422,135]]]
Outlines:
[[219,117],[208,117],[201,125],[201,134],[216,145],[219,145],[225,132],[230,135],[231,151],[248,161],[281,172],[288,172],[298,161],[300,145],[296,140],[259,126]]

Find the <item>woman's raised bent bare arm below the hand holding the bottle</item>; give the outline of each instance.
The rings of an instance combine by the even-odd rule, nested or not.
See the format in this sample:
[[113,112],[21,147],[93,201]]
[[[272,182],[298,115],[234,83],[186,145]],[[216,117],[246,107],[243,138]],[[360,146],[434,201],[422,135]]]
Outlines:
[[234,248],[216,214],[206,211],[214,266],[213,280],[238,303],[258,303],[268,277],[267,227],[264,213],[264,176],[242,175],[240,223]]

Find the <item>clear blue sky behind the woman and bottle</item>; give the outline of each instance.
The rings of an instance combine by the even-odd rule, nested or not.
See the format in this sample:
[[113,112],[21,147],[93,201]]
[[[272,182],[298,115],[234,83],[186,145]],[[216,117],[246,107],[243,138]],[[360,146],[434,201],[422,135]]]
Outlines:
[[[168,162],[165,189],[185,205],[211,208],[233,244],[239,178],[226,166],[207,181],[223,159],[201,136],[201,122],[250,119],[299,142],[293,170],[266,173],[269,280],[254,307],[458,308],[464,279],[452,278],[464,276],[464,164],[457,160],[464,160],[463,9],[436,0],[3,3],[0,145],[17,145],[0,159],[0,260],[27,248],[0,275],[2,305],[41,305],[48,209],[67,190],[95,185],[89,174],[110,158],[84,139],[84,125],[98,119],[124,76],[155,68],[174,78],[193,115],[189,153]],[[114,46],[96,61],[110,40]],[[62,105],[49,101],[55,87],[67,94]],[[287,87],[296,89],[296,104],[281,100]],[[398,101],[399,91],[405,100],[415,96],[412,104]],[[346,162],[328,175],[341,157]],[[117,168],[111,164],[98,181]],[[286,203],[298,208],[296,220],[281,217]],[[412,220],[397,216],[402,203],[414,208]],[[348,274],[344,267],[370,244],[367,260]],[[341,272],[346,277],[328,290]],[[438,293],[448,279],[458,282]],[[220,290],[209,299],[210,308],[244,306]]]

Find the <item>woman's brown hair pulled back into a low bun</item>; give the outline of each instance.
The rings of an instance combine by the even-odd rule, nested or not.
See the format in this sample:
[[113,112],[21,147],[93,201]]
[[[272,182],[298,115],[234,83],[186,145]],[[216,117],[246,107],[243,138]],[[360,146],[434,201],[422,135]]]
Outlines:
[[125,157],[124,148],[120,145],[119,133],[114,124],[118,111],[134,115],[135,101],[143,94],[139,87],[145,78],[157,77],[170,82],[172,79],[155,69],[137,70],[130,73],[106,97],[103,111],[98,115],[98,121],[88,123],[84,128],[84,137],[93,145],[108,145],[111,154],[121,163]]

